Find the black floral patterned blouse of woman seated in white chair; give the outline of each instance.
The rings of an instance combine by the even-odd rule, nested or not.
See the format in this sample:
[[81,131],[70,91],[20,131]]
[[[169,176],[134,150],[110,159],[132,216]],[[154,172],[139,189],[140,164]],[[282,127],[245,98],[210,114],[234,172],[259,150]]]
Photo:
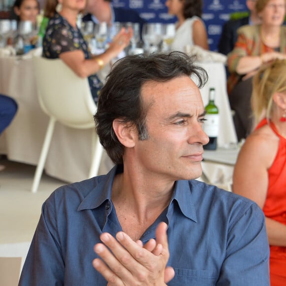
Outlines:
[[[68,51],[82,50],[85,59],[91,59],[87,44],[79,29],[73,28],[60,14],[55,13],[50,19],[43,38],[43,57],[57,59]],[[98,94],[103,84],[96,74],[88,77],[92,97],[97,104]]]

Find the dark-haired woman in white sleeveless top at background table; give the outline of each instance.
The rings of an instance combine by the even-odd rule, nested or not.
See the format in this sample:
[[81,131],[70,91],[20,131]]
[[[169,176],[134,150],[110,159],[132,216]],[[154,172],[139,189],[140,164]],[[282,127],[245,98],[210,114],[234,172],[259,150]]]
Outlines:
[[201,19],[202,0],[167,0],[168,13],[178,18],[172,49],[185,52],[186,46],[197,45],[209,49],[208,35]]

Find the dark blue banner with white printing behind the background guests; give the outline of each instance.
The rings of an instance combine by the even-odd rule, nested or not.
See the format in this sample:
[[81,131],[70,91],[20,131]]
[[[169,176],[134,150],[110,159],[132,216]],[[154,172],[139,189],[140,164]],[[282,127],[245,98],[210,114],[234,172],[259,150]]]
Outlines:
[[[204,0],[202,18],[205,22],[210,50],[216,51],[223,24],[233,12],[247,11],[246,0]],[[135,9],[150,23],[174,23],[177,18],[168,14],[165,0],[113,0],[114,7]]]

